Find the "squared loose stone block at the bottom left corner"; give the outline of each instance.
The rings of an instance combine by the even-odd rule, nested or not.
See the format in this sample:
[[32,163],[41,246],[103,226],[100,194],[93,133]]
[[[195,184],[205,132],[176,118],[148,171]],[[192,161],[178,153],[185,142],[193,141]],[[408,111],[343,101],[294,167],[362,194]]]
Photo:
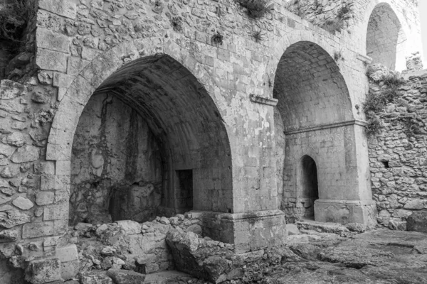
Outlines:
[[33,284],[60,280],[60,261],[58,258],[31,261],[26,268],[26,280]]

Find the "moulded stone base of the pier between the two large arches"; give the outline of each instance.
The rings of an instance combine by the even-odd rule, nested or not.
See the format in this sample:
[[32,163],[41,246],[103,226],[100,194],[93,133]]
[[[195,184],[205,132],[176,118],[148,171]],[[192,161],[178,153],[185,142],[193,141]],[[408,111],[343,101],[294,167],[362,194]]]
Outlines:
[[236,253],[281,245],[286,236],[285,213],[280,210],[192,213],[201,214],[204,236],[234,244]]

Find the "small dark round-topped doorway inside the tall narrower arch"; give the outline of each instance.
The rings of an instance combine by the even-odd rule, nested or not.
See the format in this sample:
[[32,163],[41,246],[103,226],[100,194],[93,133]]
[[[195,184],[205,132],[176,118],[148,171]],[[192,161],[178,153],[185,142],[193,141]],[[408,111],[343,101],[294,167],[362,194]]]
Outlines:
[[319,199],[317,164],[310,155],[303,155],[297,168],[297,199],[302,202],[302,218],[315,219],[315,201]]

